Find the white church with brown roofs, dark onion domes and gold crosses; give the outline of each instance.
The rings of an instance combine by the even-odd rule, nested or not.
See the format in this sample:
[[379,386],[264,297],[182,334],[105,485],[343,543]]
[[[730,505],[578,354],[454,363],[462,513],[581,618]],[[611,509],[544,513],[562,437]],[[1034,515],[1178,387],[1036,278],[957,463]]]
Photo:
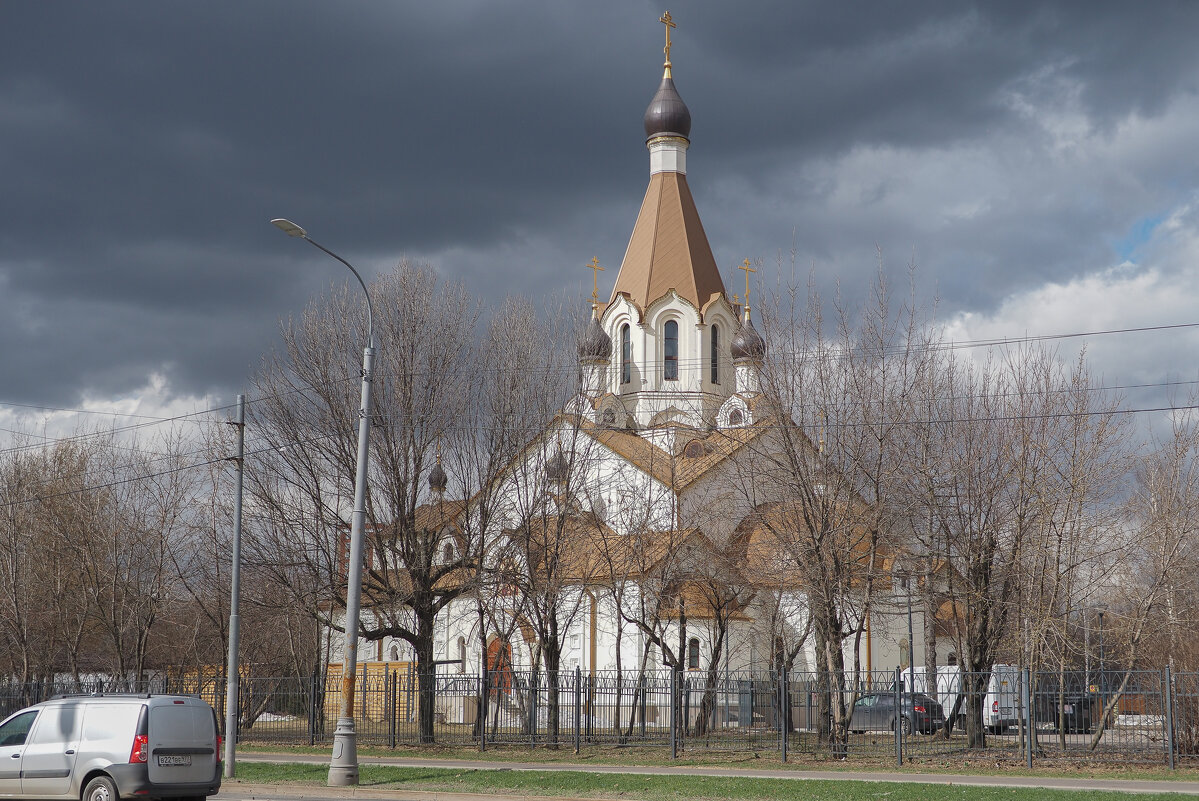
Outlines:
[[[439,671],[771,670],[793,645],[791,668],[813,669],[805,588],[754,524],[777,500],[755,486],[755,460],[782,416],[760,392],[752,270],[731,297],[688,185],[669,29],[665,54],[644,118],[649,186],[579,338],[580,391],[495,478],[484,559],[498,578],[439,615]],[[898,663],[879,626],[863,642],[863,668]]]

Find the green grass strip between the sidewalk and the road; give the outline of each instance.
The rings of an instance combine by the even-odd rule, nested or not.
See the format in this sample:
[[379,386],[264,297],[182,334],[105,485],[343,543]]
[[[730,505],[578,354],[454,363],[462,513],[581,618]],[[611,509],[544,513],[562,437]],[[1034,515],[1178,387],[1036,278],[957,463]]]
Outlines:
[[[638,799],[640,801],[1128,801],[1115,791],[1047,790],[975,785],[824,779],[770,779],[712,776],[639,776],[576,771],[454,770],[362,765],[361,785],[378,789],[478,793],[498,795],[556,795],[577,799]],[[324,784],[327,765],[241,763],[237,778],[255,784]],[[1177,801],[1171,793],[1138,794],[1149,801]]]

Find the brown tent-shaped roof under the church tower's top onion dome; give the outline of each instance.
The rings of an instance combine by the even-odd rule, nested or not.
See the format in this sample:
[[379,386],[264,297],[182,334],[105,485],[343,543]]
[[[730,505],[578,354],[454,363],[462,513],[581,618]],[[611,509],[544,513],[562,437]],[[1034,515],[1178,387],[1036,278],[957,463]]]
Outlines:
[[664,171],[650,176],[611,297],[628,293],[634,303],[645,308],[671,289],[703,308],[712,294],[724,294],[724,282],[687,176]]

